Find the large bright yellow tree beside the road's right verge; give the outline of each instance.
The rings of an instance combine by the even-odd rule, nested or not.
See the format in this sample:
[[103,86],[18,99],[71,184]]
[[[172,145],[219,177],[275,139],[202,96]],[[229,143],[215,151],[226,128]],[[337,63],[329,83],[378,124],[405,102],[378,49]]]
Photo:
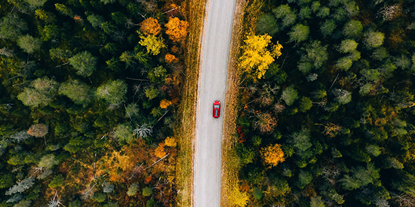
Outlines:
[[282,45],[278,41],[273,45],[268,34],[248,35],[245,44],[242,47],[243,54],[239,58],[239,67],[246,72],[254,70],[255,77],[258,79],[264,76],[274,58],[282,55]]

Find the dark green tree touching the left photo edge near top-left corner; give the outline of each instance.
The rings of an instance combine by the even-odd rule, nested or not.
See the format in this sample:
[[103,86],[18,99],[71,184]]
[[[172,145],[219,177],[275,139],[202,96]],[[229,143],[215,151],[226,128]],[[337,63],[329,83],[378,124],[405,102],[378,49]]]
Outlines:
[[0,22],[0,37],[2,39],[16,40],[21,36],[22,32],[28,30],[26,21],[21,19],[19,15],[13,13],[3,17]]

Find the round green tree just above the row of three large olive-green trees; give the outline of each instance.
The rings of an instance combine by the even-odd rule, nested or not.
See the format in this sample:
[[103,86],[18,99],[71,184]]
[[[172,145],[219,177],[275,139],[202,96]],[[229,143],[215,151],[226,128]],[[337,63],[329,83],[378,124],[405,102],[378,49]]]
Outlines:
[[76,74],[82,77],[89,77],[96,69],[97,57],[93,57],[90,52],[79,52],[77,55],[68,59],[69,64],[77,70]]

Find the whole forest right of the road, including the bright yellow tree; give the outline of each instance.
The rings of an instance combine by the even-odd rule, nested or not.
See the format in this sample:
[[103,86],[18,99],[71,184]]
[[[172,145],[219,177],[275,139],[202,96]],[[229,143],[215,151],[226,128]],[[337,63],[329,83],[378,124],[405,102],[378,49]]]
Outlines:
[[230,201],[415,206],[415,1],[252,0],[244,15]]

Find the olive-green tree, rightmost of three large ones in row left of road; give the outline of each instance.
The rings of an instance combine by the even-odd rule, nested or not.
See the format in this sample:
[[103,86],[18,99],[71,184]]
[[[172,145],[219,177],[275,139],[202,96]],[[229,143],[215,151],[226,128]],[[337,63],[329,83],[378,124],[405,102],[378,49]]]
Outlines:
[[122,80],[109,81],[97,88],[95,95],[108,103],[122,103],[127,94],[127,84]]

